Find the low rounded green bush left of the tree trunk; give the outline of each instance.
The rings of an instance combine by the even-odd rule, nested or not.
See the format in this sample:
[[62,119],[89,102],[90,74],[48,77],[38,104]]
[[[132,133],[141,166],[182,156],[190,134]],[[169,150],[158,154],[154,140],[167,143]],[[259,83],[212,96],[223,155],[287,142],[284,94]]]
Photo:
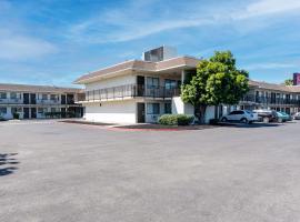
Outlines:
[[164,125],[188,125],[192,122],[193,115],[187,114],[163,114],[159,118],[159,124]]

